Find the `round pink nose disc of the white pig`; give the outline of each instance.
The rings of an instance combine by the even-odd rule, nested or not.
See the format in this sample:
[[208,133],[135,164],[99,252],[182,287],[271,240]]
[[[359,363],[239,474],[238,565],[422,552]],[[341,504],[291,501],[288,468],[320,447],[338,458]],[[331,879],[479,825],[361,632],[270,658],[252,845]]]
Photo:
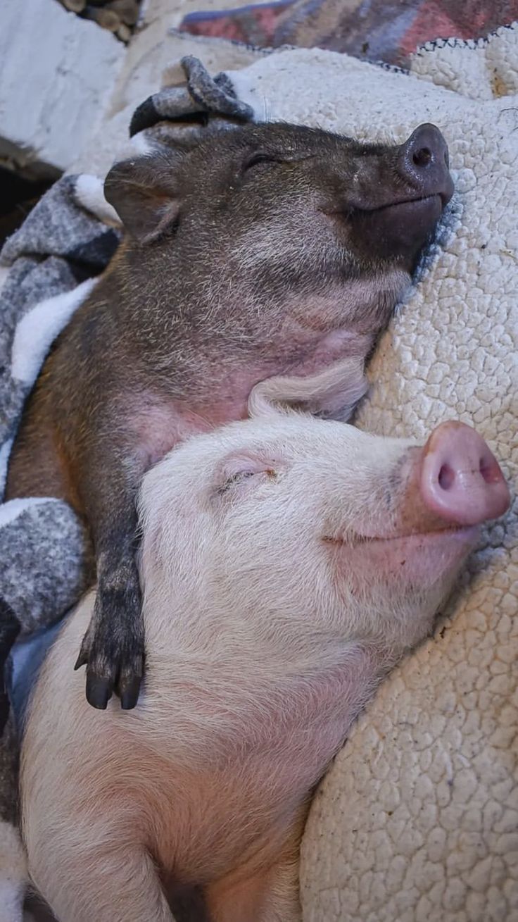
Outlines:
[[498,518],[510,504],[498,461],[478,433],[444,422],[422,449],[419,489],[431,513],[457,526]]

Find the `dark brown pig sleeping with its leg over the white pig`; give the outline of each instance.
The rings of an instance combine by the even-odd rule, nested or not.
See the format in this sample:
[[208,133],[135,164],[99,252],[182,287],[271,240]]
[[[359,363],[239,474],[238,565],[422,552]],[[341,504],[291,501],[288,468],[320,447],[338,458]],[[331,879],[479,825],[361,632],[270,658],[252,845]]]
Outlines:
[[249,125],[119,163],[105,194],[127,231],[29,399],[6,498],[86,517],[98,594],[77,666],[89,703],[135,706],[144,627],[135,566],[143,473],[187,435],[246,414],[254,384],[357,358],[312,409],[345,419],[363,361],[453,193],[430,124],[400,146]]

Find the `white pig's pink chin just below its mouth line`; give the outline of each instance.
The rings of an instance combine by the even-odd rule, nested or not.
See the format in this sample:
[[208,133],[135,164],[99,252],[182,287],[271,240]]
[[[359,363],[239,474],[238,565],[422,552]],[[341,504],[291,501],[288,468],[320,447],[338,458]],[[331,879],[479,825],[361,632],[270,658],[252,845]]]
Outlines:
[[394,538],[367,538],[358,544],[338,543],[338,566],[347,568],[352,588],[373,581],[411,583],[423,587],[455,573],[477,543],[478,526],[451,528]]

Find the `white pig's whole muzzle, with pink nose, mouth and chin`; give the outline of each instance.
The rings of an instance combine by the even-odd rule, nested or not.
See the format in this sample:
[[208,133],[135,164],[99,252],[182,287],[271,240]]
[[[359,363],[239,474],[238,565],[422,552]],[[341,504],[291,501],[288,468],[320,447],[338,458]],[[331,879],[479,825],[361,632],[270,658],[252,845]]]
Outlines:
[[391,473],[362,503],[346,538],[325,536],[347,585],[362,590],[376,579],[386,587],[394,577],[396,586],[439,585],[474,546],[475,526],[498,518],[510,504],[488,445],[460,422],[442,423],[422,447],[403,444],[399,460],[393,455],[388,466],[380,451],[378,464]]

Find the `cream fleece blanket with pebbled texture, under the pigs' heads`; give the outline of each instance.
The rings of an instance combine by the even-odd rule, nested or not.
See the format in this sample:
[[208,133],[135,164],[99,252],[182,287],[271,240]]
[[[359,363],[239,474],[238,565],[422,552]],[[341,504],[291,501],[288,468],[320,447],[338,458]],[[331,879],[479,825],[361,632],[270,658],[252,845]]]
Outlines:
[[[371,364],[359,425],[424,439],[442,420],[463,420],[515,486],[518,30],[423,49],[412,76],[300,50],[231,77],[272,119],[369,140],[440,126],[457,190],[449,227]],[[513,495],[434,637],[385,681],[314,800],[306,922],[518,919]]]

